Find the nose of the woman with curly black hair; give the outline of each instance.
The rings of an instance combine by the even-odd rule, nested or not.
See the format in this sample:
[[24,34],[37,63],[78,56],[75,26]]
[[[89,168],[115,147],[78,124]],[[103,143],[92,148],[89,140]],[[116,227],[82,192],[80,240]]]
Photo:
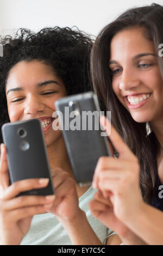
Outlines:
[[24,114],[36,114],[39,111],[44,111],[45,104],[40,101],[39,96],[30,95],[24,106]]

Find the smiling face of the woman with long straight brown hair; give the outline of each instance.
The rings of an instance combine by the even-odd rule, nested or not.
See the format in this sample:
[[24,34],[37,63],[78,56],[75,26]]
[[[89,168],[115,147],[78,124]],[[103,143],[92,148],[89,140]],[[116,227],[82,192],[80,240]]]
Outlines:
[[[153,41],[143,28],[118,32],[111,40],[112,89],[139,123],[158,121],[163,112],[163,82]],[[158,48],[159,51],[159,48]]]

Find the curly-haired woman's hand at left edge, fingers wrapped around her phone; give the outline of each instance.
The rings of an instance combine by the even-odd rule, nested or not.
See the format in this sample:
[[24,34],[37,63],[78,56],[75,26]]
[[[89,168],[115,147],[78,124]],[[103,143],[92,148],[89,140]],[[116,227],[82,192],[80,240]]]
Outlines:
[[52,207],[54,198],[46,196],[18,196],[20,192],[46,187],[48,180],[26,179],[9,185],[7,150],[1,144],[0,155],[0,244],[19,245],[30,228],[36,214],[45,214]]

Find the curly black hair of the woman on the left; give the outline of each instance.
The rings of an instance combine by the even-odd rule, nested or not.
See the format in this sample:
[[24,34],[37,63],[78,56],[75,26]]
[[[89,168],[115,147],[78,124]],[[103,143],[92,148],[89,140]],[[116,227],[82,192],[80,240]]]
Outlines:
[[10,121],[5,83],[11,68],[22,60],[40,60],[51,65],[64,82],[67,95],[92,90],[89,67],[93,42],[91,36],[77,27],[43,28],[37,33],[20,28],[14,36],[1,38],[0,44],[0,129]]

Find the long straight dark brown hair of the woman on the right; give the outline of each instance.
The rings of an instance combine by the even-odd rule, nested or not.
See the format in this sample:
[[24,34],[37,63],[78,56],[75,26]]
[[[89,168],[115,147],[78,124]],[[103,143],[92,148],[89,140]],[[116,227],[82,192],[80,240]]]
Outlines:
[[[147,136],[146,123],[137,123],[117,99],[112,90],[112,72],[109,69],[110,43],[112,37],[129,27],[145,28],[145,36],[152,40],[155,52],[163,43],[163,7],[152,4],[146,7],[129,9],[99,33],[91,53],[91,74],[93,88],[97,93],[103,111],[111,111],[111,122],[127,143],[140,163],[140,187],[144,200],[152,202],[155,186],[155,157],[153,143]],[[163,81],[163,59],[158,57]]]

